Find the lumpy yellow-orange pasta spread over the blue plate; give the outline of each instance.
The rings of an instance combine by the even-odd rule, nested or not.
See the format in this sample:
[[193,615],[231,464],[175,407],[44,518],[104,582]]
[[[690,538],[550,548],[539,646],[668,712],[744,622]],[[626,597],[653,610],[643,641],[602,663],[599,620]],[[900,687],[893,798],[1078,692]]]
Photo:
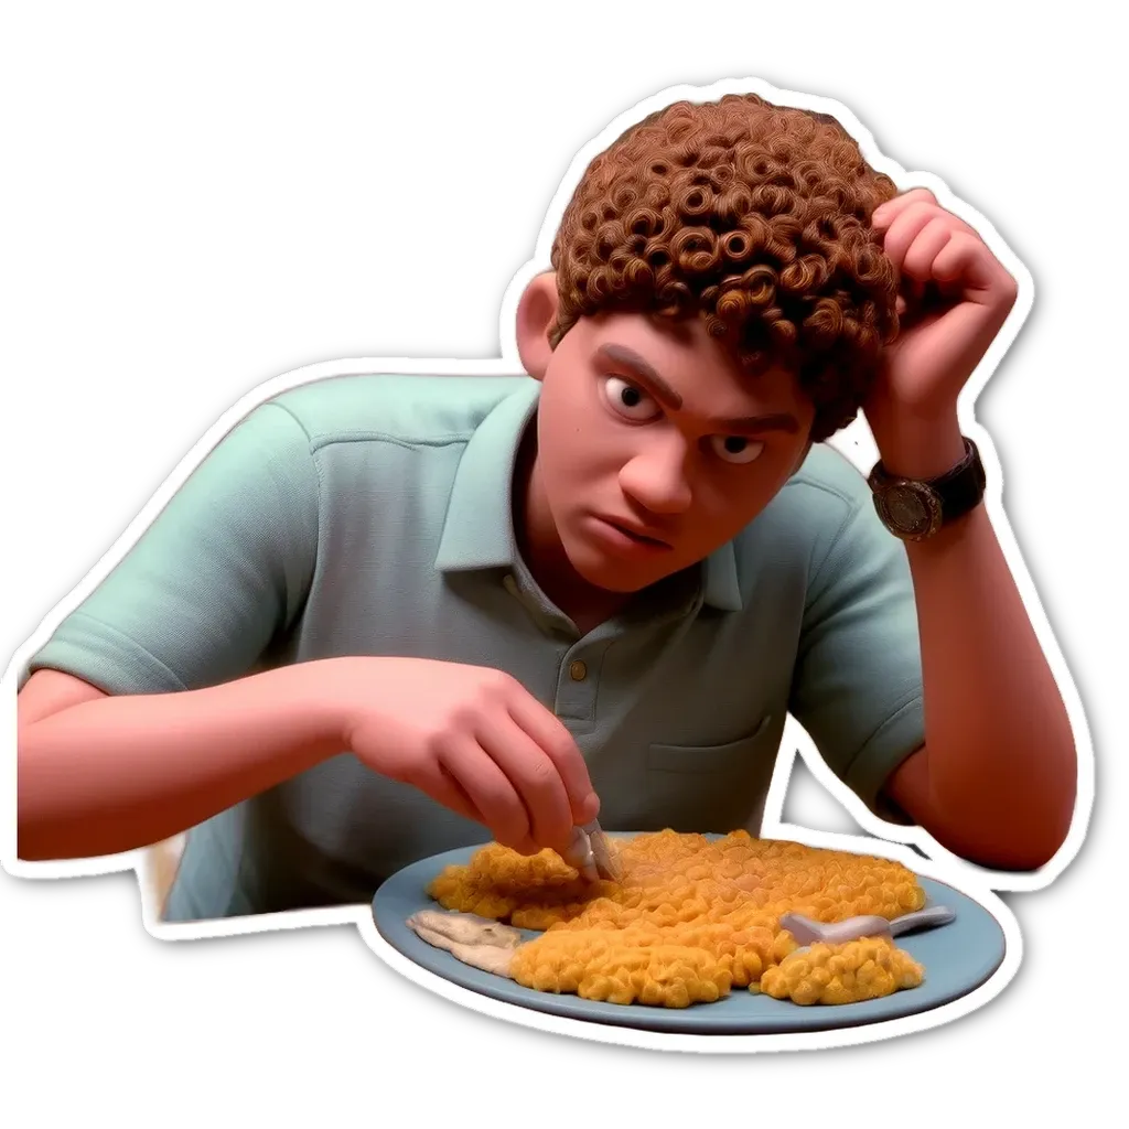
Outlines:
[[848,1004],[914,988],[925,970],[883,938],[797,944],[780,918],[886,919],[921,909],[913,872],[889,859],[735,831],[663,831],[619,841],[622,883],[584,881],[550,850],[491,843],[447,867],[428,893],[448,910],[542,930],[510,975],[536,991],[612,1004],[689,1007],[732,989],[795,1004]]

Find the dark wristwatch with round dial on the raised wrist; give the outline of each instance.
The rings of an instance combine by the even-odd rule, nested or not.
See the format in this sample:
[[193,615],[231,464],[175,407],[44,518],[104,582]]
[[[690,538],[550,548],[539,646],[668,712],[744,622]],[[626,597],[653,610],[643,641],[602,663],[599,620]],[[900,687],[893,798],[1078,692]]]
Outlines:
[[984,496],[980,452],[964,439],[964,458],[937,479],[900,479],[876,463],[867,480],[882,524],[902,541],[925,541],[975,509]]

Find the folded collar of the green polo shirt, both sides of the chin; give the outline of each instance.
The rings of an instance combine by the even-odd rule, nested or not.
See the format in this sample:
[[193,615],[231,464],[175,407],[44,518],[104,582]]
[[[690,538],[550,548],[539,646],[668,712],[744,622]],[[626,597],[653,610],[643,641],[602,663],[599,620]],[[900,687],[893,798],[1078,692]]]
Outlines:
[[[519,380],[475,428],[460,460],[435,567],[441,572],[513,568],[514,470],[525,429],[536,413],[541,384]],[[727,543],[702,563],[703,601],[723,612],[742,610],[737,559]]]

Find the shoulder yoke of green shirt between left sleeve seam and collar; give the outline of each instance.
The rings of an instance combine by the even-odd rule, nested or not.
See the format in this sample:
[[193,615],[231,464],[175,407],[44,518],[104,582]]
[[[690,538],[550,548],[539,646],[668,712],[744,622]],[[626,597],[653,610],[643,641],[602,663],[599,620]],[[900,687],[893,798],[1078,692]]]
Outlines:
[[291,415],[315,452],[366,439],[432,445],[466,440],[530,383],[526,376],[349,375],[291,388],[268,404]]

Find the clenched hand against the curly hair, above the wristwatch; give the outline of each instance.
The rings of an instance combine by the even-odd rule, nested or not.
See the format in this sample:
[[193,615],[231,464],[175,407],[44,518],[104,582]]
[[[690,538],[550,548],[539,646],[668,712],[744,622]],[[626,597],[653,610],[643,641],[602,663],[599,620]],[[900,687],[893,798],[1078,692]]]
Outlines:
[[902,275],[901,332],[884,351],[863,410],[879,450],[885,444],[896,456],[912,457],[928,429],[948,427],[953,434],[945,441],[955,441],[960,458],[957,396],[1007,320],[1018,288],[980,236],[928,189],[883,204],[874,228]]

